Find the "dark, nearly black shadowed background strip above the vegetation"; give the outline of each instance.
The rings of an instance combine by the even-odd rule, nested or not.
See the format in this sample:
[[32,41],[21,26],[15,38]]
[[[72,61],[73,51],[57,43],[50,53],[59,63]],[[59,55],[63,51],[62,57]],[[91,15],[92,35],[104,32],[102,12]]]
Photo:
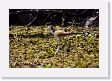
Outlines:
[[[9,25],[71,25],[75,20],[75,25],[84,26],[88,17],[99,16],[98,9],[9,9]],[[34,21],[32,21],[34,20]],[[99,17],[92,25],[99,25]]]

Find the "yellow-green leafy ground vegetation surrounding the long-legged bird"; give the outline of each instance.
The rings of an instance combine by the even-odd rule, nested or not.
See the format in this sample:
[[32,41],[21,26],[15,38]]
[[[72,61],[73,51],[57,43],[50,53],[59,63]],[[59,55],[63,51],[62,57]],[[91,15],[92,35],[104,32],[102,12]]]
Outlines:
[[[83,30],[83,31],[82,31]],[[98,68],[98,27],[67,27],[72,32],[57,41],[46,26],[9,27],[10,68]]]

